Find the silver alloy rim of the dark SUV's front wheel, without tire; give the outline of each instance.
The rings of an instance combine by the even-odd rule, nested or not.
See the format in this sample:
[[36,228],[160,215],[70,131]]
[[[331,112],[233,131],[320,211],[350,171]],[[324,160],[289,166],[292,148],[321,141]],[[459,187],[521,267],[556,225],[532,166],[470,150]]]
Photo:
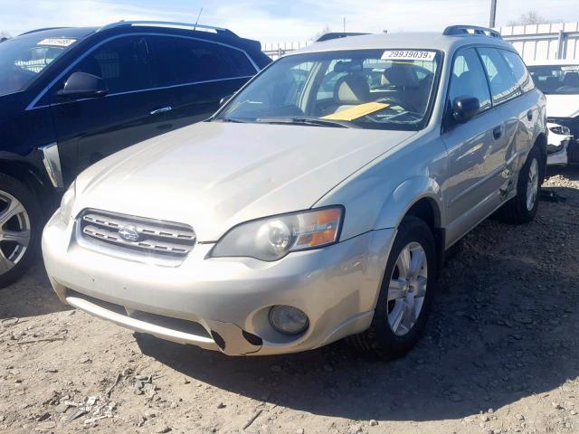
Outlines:
[[0,191],[0,275],[23,258],[31,239],[30,216],[12,194]]

